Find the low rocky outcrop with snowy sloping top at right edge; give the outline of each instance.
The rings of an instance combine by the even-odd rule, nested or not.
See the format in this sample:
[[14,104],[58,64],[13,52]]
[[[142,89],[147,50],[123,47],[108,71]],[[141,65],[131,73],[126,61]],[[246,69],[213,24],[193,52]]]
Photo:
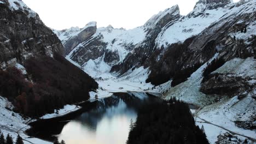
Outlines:
[[202,80],[201,91],[206,94],[246,97],[256,88],[254,58],[234,58]]

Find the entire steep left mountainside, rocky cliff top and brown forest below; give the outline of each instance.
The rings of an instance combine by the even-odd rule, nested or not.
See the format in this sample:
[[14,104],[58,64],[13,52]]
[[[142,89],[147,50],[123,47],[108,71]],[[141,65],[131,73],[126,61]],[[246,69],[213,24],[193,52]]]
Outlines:
[[21,0],[1,0],[0,7],[0,94],[16,112],[37,117],[88,100],[98,84],[62,57],[61,41],[38,14]]

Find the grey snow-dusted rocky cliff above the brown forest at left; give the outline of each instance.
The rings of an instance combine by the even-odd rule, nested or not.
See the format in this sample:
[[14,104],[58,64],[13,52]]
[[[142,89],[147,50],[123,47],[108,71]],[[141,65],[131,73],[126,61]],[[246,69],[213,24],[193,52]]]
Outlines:
[[29,56],[63,54],[59,38],[22,1],[0,3],[0,61],[16,58],[22,63]]

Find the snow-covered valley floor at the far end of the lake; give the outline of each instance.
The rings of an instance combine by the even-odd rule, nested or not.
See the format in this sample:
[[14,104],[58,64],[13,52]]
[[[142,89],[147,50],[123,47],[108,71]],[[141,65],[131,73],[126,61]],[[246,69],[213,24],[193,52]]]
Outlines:
[[[148,75],[150,74],[149,69],[144,69],[143,67],[135,68],[134,70],[128,70],[125,74],[117,76],[110,73],[110,67],[106,64],[103,59],[98,58],[95,60],[89,60],[84,67],[81,67],[78,63],[72,61],[68,56],[66,59],[76,65],[77,67],[83,69],[85,73],[89,74],[98,83],[98,97],[102,92],[117,93],[117,92],[152,92],[160,93],[160,88],[155,88],[152,90],[154,85],[151,83],[146,83]],[[102,97],[101,97],[102,98]]]

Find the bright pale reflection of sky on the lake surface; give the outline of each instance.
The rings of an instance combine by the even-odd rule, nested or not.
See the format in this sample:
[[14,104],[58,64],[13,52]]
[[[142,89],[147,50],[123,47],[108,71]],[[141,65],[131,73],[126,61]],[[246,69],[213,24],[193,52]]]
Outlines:
[[137,113],[126,106],[125,110],[124,107],[121,110],[115,108],[107,110],[107,114],[97,119],[96,129],[85,122],[69,122],[63,127],[59,140],[65,140],[67,144],[125,144],[130,121],[135,121]]

